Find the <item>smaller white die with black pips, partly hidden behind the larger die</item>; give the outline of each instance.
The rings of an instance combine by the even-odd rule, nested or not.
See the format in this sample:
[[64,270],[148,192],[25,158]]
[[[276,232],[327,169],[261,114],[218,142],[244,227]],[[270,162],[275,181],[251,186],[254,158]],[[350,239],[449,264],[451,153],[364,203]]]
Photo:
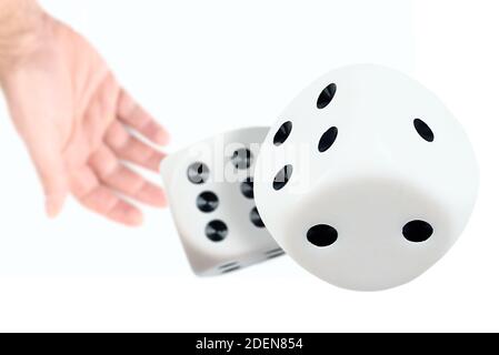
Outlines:
[[220,134],[161,163],[171,213],[198,275],[223,274],[283,254],[253,201],[255,163],[268,130]]

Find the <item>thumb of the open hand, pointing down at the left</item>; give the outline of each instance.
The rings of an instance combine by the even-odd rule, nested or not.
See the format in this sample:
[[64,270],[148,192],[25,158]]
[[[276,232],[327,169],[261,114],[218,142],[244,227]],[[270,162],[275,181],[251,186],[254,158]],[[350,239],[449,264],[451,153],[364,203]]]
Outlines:
[[56,217],[68,195],[68,173],[62,152],[54,142],[43,142],[31,139],[28,149],[46,195],[46,212],[49,217]]

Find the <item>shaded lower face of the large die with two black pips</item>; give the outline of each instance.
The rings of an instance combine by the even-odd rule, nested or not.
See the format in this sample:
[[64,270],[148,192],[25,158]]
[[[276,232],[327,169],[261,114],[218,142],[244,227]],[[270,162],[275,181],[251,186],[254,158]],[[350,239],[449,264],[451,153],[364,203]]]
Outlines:
[[[279,242],[287,253],[318,277],[349,290],[407,283],[452,243],[447,237],[452,221],[437,200],[386,178],[352,179],[313,190],[290,211],[289,221],[271,230],[275,236],[286,236]],[[406,237],[403,227],[413,221],[428,223],[430,232],[416,224],[416,234]],[[266,223],[271,225],[269,219]]]

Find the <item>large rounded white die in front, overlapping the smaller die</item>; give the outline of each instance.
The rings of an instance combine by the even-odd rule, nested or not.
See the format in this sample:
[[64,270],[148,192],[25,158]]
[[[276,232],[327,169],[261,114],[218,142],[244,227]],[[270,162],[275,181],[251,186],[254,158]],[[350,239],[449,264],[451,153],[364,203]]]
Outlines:
[[312,274],[363,291],[435,264],[462,232],[478,187],[459,123],[397,71],[352,65],[285,110],[257,162],[260,215]]

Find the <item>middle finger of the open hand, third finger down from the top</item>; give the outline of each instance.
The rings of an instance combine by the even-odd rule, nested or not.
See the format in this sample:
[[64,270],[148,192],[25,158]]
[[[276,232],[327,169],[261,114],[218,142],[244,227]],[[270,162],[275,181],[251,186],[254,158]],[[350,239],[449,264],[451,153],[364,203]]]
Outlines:
[[161,187],[121,164],[106,145],[90,158],[89,164],[108,187],[152,206],[162,207],[167,204]]

